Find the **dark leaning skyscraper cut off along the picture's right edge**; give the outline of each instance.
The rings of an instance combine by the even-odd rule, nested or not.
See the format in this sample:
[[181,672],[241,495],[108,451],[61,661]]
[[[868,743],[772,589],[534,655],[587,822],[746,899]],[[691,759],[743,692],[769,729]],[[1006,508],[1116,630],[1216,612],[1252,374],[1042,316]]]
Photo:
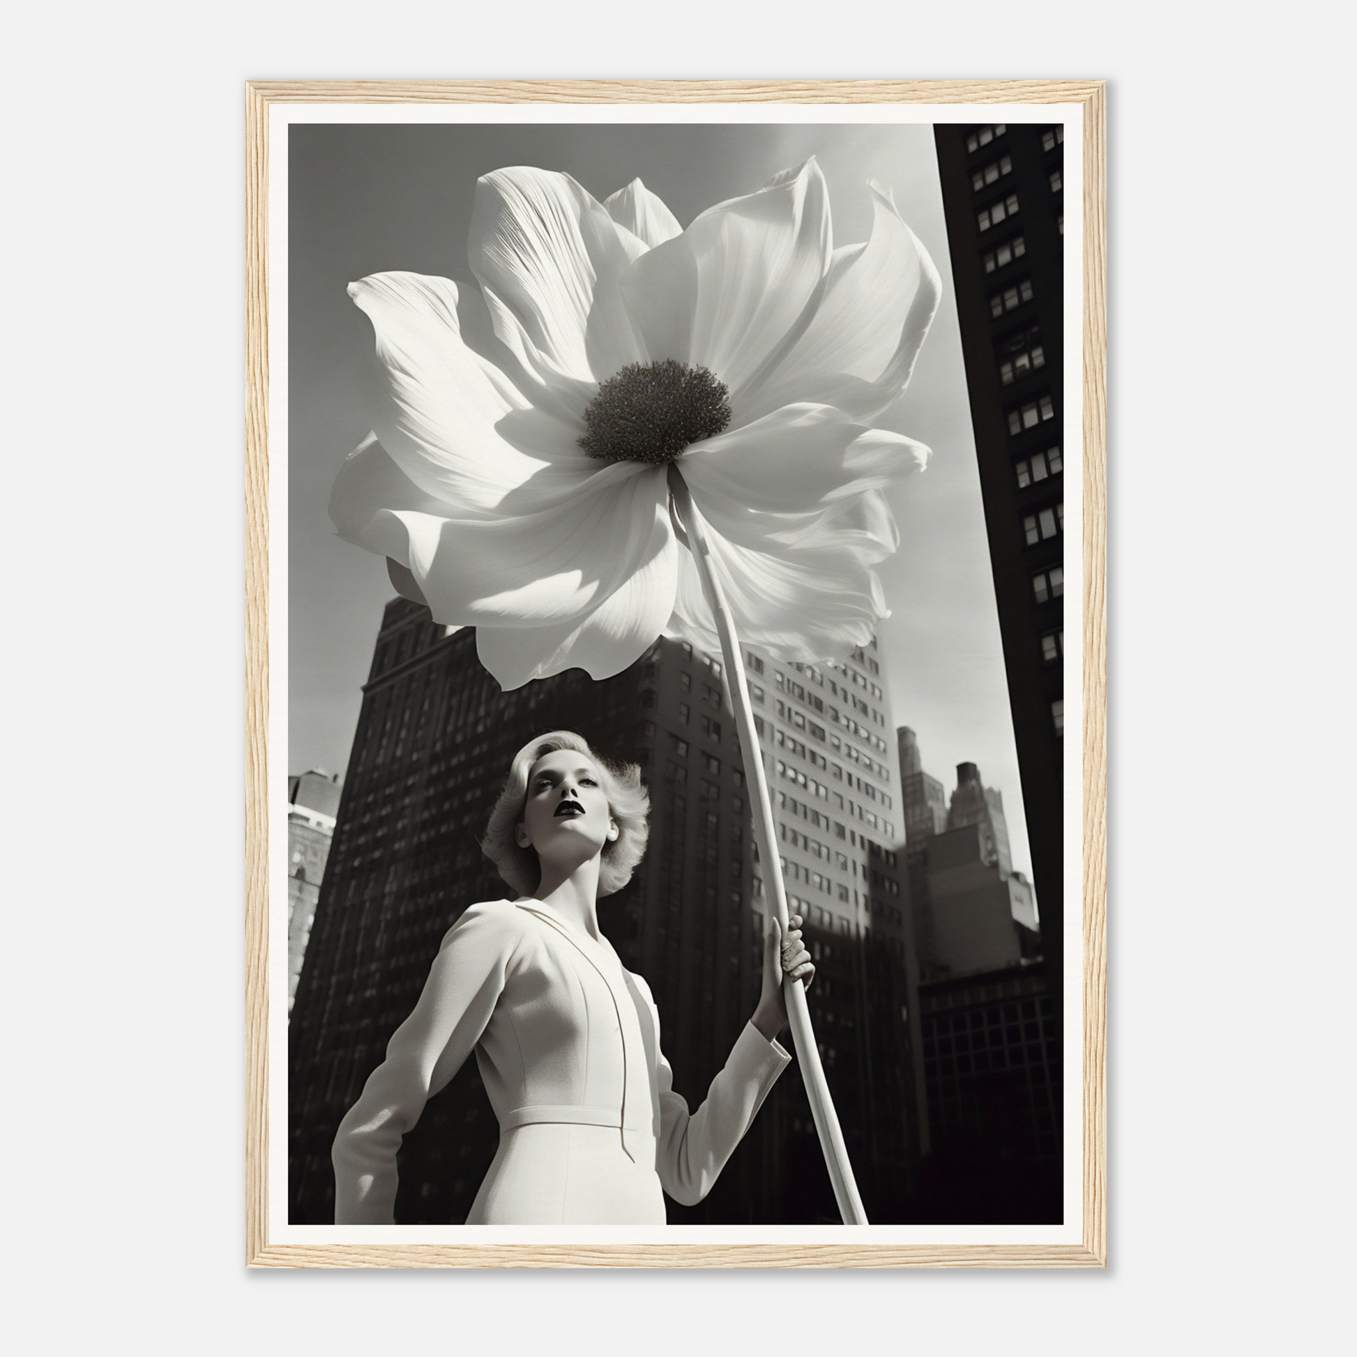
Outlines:
[[[1046,959],[1061,974],[1064,128],[934,129]],[[1056,1011],[1060,985],[1052,987]]]

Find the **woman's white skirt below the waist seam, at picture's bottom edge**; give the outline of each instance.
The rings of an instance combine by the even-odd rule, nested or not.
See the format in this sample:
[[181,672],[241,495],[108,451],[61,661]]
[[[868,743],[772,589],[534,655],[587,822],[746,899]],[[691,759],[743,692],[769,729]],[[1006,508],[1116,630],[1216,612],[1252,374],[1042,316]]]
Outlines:
[[467,1224],[664,1225],[655,1139],[628,1129],[624,1149],[616,1126],[506,1130]]

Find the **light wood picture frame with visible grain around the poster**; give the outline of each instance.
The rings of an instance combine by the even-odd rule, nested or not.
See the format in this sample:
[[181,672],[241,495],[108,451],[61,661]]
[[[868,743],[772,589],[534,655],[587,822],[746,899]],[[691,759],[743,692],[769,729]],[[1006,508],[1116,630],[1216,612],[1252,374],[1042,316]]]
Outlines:
[[[1083,1216],[1077,1244],[278,1244],[267,1238],[269,107],[274,103],[1080,103]],[[1106,85],[1103,81],[258,81],[246,87],[246,1258],[254,1267],[1099,1267],[1106,1122]],[[788,1232],[791,1228],[788,1227]]]

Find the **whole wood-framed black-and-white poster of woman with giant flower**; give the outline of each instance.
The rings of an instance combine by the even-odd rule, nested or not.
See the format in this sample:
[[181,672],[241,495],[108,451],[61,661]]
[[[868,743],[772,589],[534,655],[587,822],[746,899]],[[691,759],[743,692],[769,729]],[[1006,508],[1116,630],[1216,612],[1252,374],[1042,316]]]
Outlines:
[[1103,110],[248,87],[251,1265],[1105,1262]]

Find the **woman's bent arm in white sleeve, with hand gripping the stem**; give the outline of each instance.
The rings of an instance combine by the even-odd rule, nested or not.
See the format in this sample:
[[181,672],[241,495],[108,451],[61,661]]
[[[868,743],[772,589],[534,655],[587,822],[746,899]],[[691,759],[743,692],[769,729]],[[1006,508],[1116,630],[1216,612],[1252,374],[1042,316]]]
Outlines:
[[[711,1082],[706,1101],[695,1113],[689,1113],[688,1103],[673,1091],[673,1071],[657,1050],[660,1144],[655,1167],[661,1186],[680,1205],[696,1205],[711,1191],[768,1090],[791,1061],[775,1039],[787,1025],[780,981],[787,973],[809,984],[814,966],[801,943],[801,919],[794,915],[790,923],[792,927],[783,944],[776,920],[772,920],[764,947],[763,997],[754,1018],[735,1038],[725,1068]],[[649,997],[649,991],[646,995]]]

